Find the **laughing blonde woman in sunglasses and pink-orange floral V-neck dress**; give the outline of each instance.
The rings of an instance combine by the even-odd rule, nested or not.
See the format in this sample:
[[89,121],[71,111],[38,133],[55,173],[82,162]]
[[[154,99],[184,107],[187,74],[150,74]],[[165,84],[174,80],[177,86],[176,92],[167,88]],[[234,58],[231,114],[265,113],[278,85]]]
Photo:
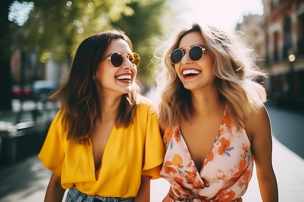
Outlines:
[[157,87],[166,145],[163,202],[241,202],[256,166],[263,202],[277,202],[271,130],[255,51],[240,32],[212,26],[174,33]]

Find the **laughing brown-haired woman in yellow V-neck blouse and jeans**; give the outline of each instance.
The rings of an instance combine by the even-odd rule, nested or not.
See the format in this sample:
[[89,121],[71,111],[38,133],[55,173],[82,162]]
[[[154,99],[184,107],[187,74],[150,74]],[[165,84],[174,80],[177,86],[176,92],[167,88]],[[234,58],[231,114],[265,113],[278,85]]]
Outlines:
[[66,82],[51,96],[61,109],[38,155],[52,171],[45,202],[149,202],[164,148],[152,102],[139,94],[139,56],[122,31],[78,47]]

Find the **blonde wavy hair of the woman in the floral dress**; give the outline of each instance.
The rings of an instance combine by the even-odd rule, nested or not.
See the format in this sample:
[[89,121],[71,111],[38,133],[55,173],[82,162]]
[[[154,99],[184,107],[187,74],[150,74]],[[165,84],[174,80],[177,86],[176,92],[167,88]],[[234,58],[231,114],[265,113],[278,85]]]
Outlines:
[[179,46],[181,39],[190,32],[200,32],[205,47],[214,58],[213,71],[220,99],[226,103],[230,119],[238,128],[248,120],[253,111],[263,106],[267,95],[261,85],[267,75],[259,70],[259,57],[255,50],[244,43],[244,33],[228,33],[215,27],[193,24],[188,29],[174,33],[163,44],[164,52],[159,69],[156,69],[157,116],[161,125],[172,127],[189,121],[192,115],[190,91],[185,89],[170,62],[169,54]]

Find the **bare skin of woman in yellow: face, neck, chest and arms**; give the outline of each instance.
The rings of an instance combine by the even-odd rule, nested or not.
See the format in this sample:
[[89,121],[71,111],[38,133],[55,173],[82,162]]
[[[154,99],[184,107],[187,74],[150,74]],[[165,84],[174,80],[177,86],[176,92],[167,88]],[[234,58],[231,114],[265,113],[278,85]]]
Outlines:
[[[119,52],[122,55],[132,53],[128,43],[123,39],[116,39],[109,44],[102,58],[107,58],[113,52]],[[100,62],[95,72],[93,79],[98,91],[101,109],[101,118],[96,121],[96,131],[91,134],[96,170],[102,166],[101,158],[115,124],[121,96],[131,92],[131,83],[136,76],[136,72],[137,68],[133,67],[126,55],[123,56],[123,63],[120,67],[114,67],[110,60],[104,60]],[[128,76],[130,79],[118,79],[121,76]],[[51,175],[45,202],[62,202],[65,189],[62,188],[60,181],[60,177],[54,173]],[[141,201],[150,202],[149,176],[141,177],[141,185],[135,197],[135,202]]]

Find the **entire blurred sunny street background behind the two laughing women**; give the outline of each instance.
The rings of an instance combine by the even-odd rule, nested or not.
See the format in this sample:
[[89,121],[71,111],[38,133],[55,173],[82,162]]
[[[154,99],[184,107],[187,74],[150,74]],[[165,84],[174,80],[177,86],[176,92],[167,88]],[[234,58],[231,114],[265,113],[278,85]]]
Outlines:
[[[192,22],[243,31],[261,57],[280,202],[304,199],[304,0],[0,0],[0,202],[41,202],[51,176],[37,159],[87,36],[125,31],[140,55],[137,78],[155,96],[157,47]],[[168,191],[152,181],[152,202]],[[261,202],[253,175],[244,202]]]

